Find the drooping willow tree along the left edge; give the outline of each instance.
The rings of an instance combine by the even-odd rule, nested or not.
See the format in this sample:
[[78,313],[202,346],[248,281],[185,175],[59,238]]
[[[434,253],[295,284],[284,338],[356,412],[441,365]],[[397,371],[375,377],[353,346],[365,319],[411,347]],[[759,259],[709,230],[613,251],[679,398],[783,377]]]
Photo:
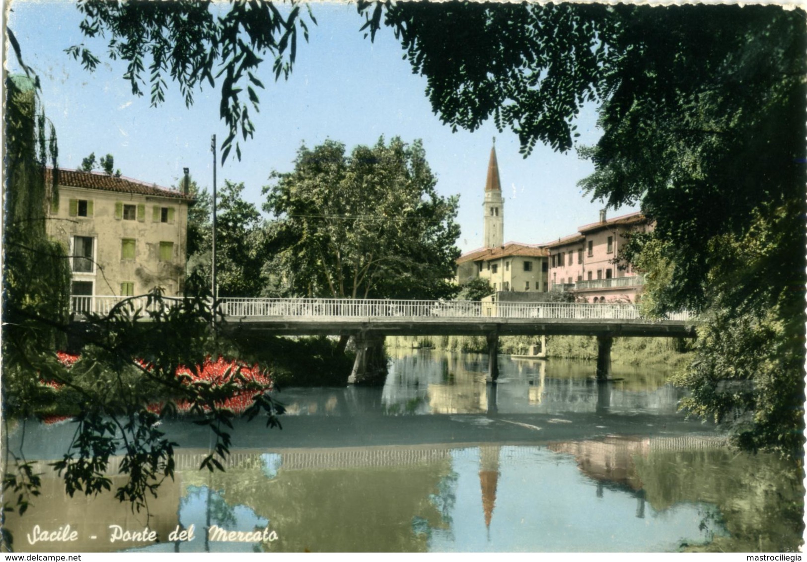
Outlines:
[[[44,173],[46,164],[58,169],[56,131],[41,109],[37,84],[25,76],[6,79],[0,387],[6,421],[13,414],[31,415],[44,400],[46,389],[31,373],[47,376],[59,368],[54,351],[65,342],[65,334],[57,327],[65,322],[69,306],[66,251],[46,233],[48,203],[59,197],[58,173],[51,174],[51,181]],[[4,445],[3,495],[13,495],[17,502],[4,504],[0,523],[6,508],[24,513],[39,487],[31,464]],[[2,541],[6,539],[3,530]]]

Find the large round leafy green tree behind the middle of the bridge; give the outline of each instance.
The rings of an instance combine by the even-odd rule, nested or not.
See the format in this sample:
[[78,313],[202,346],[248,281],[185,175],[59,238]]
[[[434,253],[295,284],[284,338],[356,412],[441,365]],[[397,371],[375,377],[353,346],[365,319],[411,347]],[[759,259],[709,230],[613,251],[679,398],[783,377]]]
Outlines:
[[450,298],[458,198],[437,195],[420,141],[374,147],[328,140],[299,149],[264,188],[270,269],[286,293],[332,298]]

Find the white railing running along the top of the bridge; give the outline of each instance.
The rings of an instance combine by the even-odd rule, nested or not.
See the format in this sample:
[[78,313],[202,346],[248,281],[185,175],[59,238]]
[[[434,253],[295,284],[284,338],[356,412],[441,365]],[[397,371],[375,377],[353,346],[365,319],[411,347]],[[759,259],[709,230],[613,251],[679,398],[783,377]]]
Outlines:
[[[108,314],[127,297],[73,296],[76,314]],[[129,297],[130,310],[147,310],[146,297]],[[164,301],[172,302],[172,301]],[[154,309],[154,302],[148,308]],[[568,320],[639,320],[639,307],[629,303],[414,301],[354,298],[220,298],[218,309],[235,318],[547,318]],[[684,311],[663,320],[688,321]],[[663,320],[661,320],[663,322]]]

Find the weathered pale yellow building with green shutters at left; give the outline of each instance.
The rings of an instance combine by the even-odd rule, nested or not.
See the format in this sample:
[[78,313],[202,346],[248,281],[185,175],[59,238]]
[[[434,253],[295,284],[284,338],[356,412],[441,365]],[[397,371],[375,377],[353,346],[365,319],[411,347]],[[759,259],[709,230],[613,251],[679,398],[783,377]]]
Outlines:
[[190,195],[69,169],[59,171],[58,194],[48,235],[70,256],[71,294],[131,296],[157,286],[182,294]]

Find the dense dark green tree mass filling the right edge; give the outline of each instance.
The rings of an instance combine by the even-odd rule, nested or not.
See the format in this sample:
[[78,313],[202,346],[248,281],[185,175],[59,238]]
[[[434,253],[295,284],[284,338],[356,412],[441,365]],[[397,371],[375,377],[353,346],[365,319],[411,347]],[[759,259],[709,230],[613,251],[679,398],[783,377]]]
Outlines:
[[[746,9],[747,8],[747,9]],[[701,313],[684,406],[749,448],[801,451],[807,31],[775,6],[619,7],[621,53],[582,183],[640,201],[644,306]]]

